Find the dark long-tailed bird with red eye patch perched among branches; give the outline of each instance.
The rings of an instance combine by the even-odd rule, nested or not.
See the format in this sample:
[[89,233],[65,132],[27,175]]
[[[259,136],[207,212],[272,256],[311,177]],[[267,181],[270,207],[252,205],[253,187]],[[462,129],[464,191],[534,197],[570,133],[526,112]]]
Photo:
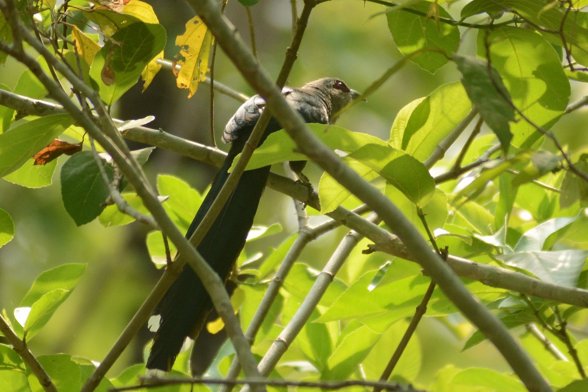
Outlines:
[[[361,97],[359,92],[350,89],[338,78],[318,79],[306,83],[301,88],[285,87],[282,94],[305,122],[320,124],[335,123],[340,110],[352,100]],[[222,140],[232,144],[223,165],[212,181],[211,189],[188,228],[186,238],[192,236],[210,209],[229,176],[233,159],[243,150],[265,106],[265,100],[261,96],[252,96],[236,110],[226,124]],[[282,126],[278,120],[270,118],[259,145],[270,133],[280,129]],[[301,175],[304,163],[305,161],[296,161],[290,165]],[[270,166],[265,166],[243,172],[232,195],[197,247],[198,252],[224,282],[228,280],[245,245],[268,180],[269,170]],[[155,325],[150,329],[155,330],[155,334],[146,368],[170,371],[186,337],[198,337],[206,316],[212,309],[212,300],[201,280],[191,267],[183,267],[178,279],[173,282],[153,311],[152,318],[155,317],[156,321],[152,322]]]

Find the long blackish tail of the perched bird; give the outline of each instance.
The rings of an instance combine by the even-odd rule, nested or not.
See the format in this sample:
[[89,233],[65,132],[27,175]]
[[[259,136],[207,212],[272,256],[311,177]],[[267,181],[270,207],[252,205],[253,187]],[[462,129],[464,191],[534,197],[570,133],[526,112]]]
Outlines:
[[[240,150],[234,145],[233,147],[235,149],[230,150],[186,237],[192,235],[226,182],[229,176],[228,169],[238,152],[234,150]],[[243,249],[268,179],[269,169],[267,166],[243,173],[225,207],[198,246],[198,252],[223,280],[228,278],[235,260]],[[211,309],[211,298],[201,280],[191,267],[185,266],[155,311],[155,314],[161,316],[161,324],[153,337],[147,368],[171,370],[185,338],[190,336],[195,339],[198,336]]]

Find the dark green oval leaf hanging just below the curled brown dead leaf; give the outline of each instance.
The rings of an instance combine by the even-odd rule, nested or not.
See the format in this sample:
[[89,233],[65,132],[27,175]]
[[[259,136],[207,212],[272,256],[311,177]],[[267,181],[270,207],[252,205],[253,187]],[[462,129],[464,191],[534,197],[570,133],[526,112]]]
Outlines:
[[[104,169],[112,181],[112,166]],[[109,190],[92,152],[83,151],[69,158],[61,168],[61,196],[64,199],[65,210],[74,219],[76,225],[91,222],[101,214],[105,206],[102,205],[109,195]]]

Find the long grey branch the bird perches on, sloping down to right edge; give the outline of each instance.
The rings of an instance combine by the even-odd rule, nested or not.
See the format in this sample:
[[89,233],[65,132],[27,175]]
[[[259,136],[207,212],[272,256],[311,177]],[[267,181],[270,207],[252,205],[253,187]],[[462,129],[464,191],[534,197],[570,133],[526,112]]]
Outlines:
[[[29,99],[2,89],[0,89],[0,105],[8,106],[15,110],[25,110],[30,115],[66,113],[62,106],[42,100]],[[117,124],[123,123],[122,120],[115,119],[113,121]],[[150,129],[141,126],[124,130],[121,133],[126,139],[156,146],[157,148],[188,156],[189,158],[217,167],[222,165],[226,156],[226,153],[221,150],[201,145],[192,142],[191,140],[178,138],[178,136],[174,136],[163,130]],[[496,145],[488,151],[495,152],[499,149],[500,145]],[[472,163],[472,165],[463,166],[460,169],[460,173],[471,170],[473,167],[479,166],[484,162],[487,162],[486,157],[479,160],[479,162],[476,161]],[[458,174],[459,173],[453,172],[444,173],[435,177],[435,182],[443,182]],[[268,186],[277,192],[293,197],[294,199],[320,211],[318,195],[313,193],[309,198],[308,187],[304,185],[295,183],[276,173],[270,173]],[[400,240],[393,234],[382,229],[382,227],[370,225],[365,219],[343,207],[338,207],[332,213],[327,215],[338,220],[342,225],[349,227],[349,229],[355,230],[372,240],[375,243],[375,245],[370,246],[372,252],[386,252],[393,256],[415,261],[409,256],[409,254],[407,254],[406,247],[402,242],[400,242]],[[574,306],[588,307],[587,290],[578,289],[577,287],[558,286],[502,267],[480,264],[472,262],[471,260],[463,259],[462,257],[449,256],[447,264],[452,267],[455,273],[460,277],[477,280],[487,286],[499,287]]]

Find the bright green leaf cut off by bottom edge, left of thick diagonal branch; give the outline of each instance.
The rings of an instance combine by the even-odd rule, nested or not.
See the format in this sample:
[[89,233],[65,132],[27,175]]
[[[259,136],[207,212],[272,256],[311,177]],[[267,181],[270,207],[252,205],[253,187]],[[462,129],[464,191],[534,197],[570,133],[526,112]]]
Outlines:
[[500,392],[525,392],[527,388],[515,377],[483,368],[468,368],[460,371],[451,380],[452,384],[471,388],[487,387]]

